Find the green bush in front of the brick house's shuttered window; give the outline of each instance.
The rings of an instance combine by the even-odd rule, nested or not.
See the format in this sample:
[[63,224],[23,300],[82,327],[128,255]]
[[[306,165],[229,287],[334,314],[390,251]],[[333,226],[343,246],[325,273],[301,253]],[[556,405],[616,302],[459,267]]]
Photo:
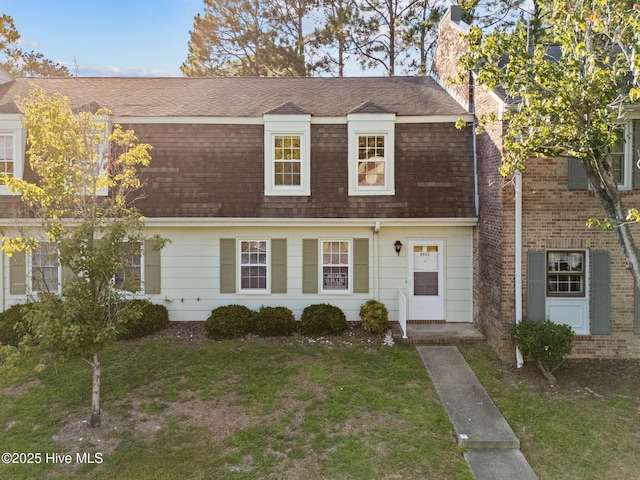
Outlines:
[[521,322],[511,327],[513,343],[518,346],[525,359],[532,359],[538,364],[551,385],[556,383],[551,372],[571,353],[575,336],[568,325],[559,325],[549,320]]

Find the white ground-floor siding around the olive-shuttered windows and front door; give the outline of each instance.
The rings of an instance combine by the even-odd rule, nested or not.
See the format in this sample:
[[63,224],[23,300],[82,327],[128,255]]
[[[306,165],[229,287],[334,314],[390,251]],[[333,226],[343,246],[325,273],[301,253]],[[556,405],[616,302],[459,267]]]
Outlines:
[[[150,234],[160,234],[170,243],[161,252],[162,293],[148,296],[154,303],[165,305],[171,320],[206,320],[216,307],[240,303],[250,308],[286,306],[297,319],[303,309],[314,303],[330,303],[340,307],[348,320],[359,320],[360,306],[374,298],[389,309],[389,318],[398,319],[398,288],[407,282],[407,245],[414,239],[441,239],[445,245],[445,315],[447,321],[472,321],[472,227],[396,227],[385,226],[374,233],[370,227],[303,227],[234,226],[234,227],[163,227],[152,228]],[[220,239],[256,238],[287,240],[287,293],[284,294],[221,294]],[[369,293],[366,294],[303,294],[302,241],[306,238],[368,238]],[[400,255],[394,243],[404,246]],[[379,258],[374,259],[375,252]],[[2,264],[2,281],[7,308],[22,300],[10,295],[9,262]],[[376,277],[377,272],[377,277]]]

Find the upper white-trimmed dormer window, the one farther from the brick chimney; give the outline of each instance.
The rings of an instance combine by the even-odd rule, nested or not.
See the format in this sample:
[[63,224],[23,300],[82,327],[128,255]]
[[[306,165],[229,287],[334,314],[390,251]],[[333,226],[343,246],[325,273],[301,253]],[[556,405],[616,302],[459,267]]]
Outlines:
[[264,115],[264,194],[311,195],[311,115]]

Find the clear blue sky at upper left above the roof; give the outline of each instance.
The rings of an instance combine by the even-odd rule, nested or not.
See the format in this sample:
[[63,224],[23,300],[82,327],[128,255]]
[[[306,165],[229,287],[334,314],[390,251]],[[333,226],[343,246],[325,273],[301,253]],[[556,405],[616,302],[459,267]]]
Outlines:
[[82,77],[178,77],[203,0],[0,0],[20,47]]

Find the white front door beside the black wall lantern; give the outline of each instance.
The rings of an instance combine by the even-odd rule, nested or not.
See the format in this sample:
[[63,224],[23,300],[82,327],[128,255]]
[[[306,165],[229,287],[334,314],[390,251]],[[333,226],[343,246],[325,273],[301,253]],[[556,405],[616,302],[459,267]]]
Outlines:
[[409,242],[407,301],[409,320],[444,318],[444,241]]

